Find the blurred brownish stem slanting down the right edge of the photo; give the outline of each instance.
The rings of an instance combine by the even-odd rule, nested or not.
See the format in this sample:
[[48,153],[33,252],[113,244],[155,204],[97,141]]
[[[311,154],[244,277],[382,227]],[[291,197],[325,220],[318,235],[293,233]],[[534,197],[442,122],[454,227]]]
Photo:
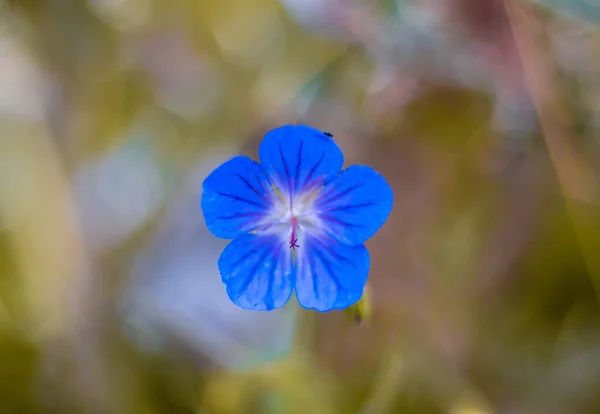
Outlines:
[[575,146],[575,132],[566,108],[561,105],[558,76],[542,37],[545,32],[542,23],[522,1],[504,0],[504,6],[567,213],[596,294],[600,296],[600,280],[594,274],[600,269],[598,183],[584,154]]

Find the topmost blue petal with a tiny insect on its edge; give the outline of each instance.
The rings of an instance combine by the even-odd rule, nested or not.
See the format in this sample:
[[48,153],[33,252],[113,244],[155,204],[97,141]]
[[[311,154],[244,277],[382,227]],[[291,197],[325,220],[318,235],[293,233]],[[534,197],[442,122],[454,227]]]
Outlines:
[[303,189],[319,188],[344,164],[342,151],[329,136],[303,125],[286,125],[267,133],[258,155],[271,181],[292,200]]

